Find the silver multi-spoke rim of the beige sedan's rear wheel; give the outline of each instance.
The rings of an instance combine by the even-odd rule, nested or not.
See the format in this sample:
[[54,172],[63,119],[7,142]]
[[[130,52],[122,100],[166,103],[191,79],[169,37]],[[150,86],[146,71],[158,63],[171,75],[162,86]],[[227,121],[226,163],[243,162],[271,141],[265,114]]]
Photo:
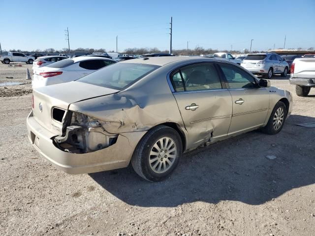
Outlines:
[[169,137],[160,138],[153,145],[149,154],[151,170],[158,174],[169,170],[176,159],[176,149],[176,144],[173,139]]

